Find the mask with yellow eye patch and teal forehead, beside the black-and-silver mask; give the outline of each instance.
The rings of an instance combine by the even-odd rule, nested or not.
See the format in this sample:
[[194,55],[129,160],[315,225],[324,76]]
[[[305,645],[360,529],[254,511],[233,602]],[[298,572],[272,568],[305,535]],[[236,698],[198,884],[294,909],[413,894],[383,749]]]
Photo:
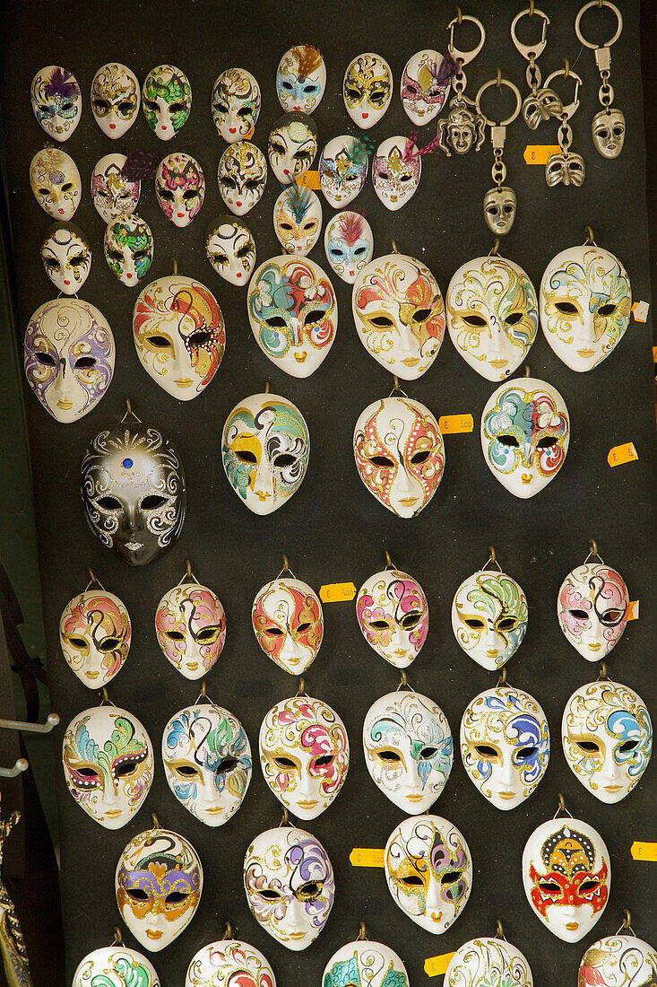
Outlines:
[[226,418],[221,451],[235,493],[255,514],[271,514],[298,491],[306,476],[306,419],[287,398],[252,394]]

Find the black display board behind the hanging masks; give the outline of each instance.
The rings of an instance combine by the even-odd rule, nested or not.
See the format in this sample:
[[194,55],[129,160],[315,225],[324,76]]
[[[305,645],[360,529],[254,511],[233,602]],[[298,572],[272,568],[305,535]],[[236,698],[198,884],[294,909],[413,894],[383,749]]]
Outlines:
[[[581,73],[581,108],[572,120],[573,148],[587,163],[581,189],[548,190],[544,170],[524,164],[528,143],[554,143],[555,123],[531,132],[519,118],[510,128],[505,148],[508,184],[518,194],[518,218],[502,245],[503,253],[520,263],[538,286],[544,267],[558,251],[582,243],[591,224],[597,242],[617,253],[626,267],[635,299],[650,301],[645,203],[645,161],[640,78],[639,5],[620,0],[624,29],[613,51],[612,82],[616,105],[627,120],[627,138],[617,161],[605,161],[593,149],[592,116],[598,111],[599,77],[593,52],[580,50],[573,30],[576,2],[547,2],[551,24],[541,59],[544,77],[564,56]],[[505,76],[526,92],[526,63],[513,47],[509,27],[520,5],[510,0],[473,0],[466,13],[481,18],[485,47],[472,66],[468,93],[474,96],[500,66]],[[351,453],[353,425],[366,404],[390,393],[388,373],[357,340],[350,310],[350,289],[332,277],[340,322],[328,358],[310,379],[295,380],[273,367],[252,337],[245,291],[222,281],[208,265],[203,232],[212,216],[224,212],[215,175],[224,143],[210,115],[210,93],[216,76],[240,65],[255,73],[262,89],[262,110],[255,143],[264,148],[272,122],[281,111],[274,74],[281,54],[293,43],[312,41],[328,66],[328,89],[314,118],[320,144],[343,132],[354,132],[342,104],[341,82],[351,57],[378,51],[390,62],[395,93],[388,113],[368,136],[377,143],[394,133],[409,133],[401,109],[401,69],[415,50],[435,46],[444,51],[445,27],[453,6],[443,2],[364,0],[338,5],[317,0],[295,5],[252,0],[196,0],[175,5],[125,3],[106,8],[72,0],[65,9],[46,2],[5,3],[2,53],[5,70],[0,97],[8,147],[8,184],[14,234],[21,331],[31,313],[53,295],[38,259],[38,242],[50,222],[37,205],[29,185],[29,165],[44,134],[29,100],[33,75],[43,65],[69,67],[84,97],[82,122],[66,143],[84,183],[83,201],[74,217],[91,237],[94,262],[82,296],[110,319],[117,346],[110,391],[82,420],[61,425],[49,418],[27,392],[34,483],[37,504],[40,567],[45,626],[50,657],[52,707],[61,715],[55,731],[58,745],[66,723],[94,705],[96,697],[73,675],[58,653],[58,621],[62,607],[87,581],[91,566],[106,587],[126,603],[134,638],[125,667],[110,685],[114,703],[136,714],[146,725],[156,749],[153,788],[128,825],[109,832],[95,823],[68,795],[58,777],[64,922],[68,945],[68,977],[86,952],[109,945],[111,927],[119,922],[113,894],[113,872],[125,843],[151,823],[180,831],[196,847],[205,872],[200,906],[191,925],[174,945],[154,954],[165,987],[183,984],[187,963],[196,949],[223,935],[229,919],[237,934],[270,959],[281,985],[319,985],[334,949],[355,938],[365,920],[368,935],[397,949],[411,983],[429,983],[423,972],[427,956],[452,951],[476,935],[492,935],[495,919],[522,949],[537,984],[574,984],[584,949],[601,935],[619,928],[621,909],[631,909],[637,935],[654,939],[655,865],[632,861],[632,840],[655,839],[655,769],[618,805],[604,805],[576,781],[559,741],[566,699],[574,689],[596,678],[597,666],[586,663],[558,628],[555,597],[563,576],[583,562],[589,538],[597,538],[605,560],[620,569],[632,599],[640,599],[640,619],[628,625],[610,665],[613,674],[657,710],[654,676],[655,598],[657,579],[654,537],[654,396],[650,329],[632,321],[618,350],[591,373],[576,374],[552,353],[540,333],[530,354],[533,375],[552,383],[564,396],[571,415],[568,456],[556,479],[533,499],[517,500],[497,483],[485,466],[477,435],[481,409],[493,390],[456,352],[449,339],[433,367],[406,390],[436,415],[472,413],[474,433],[448,436],[447,465],[438,493],[413,520],[387,511],[360,482]],[[599,37],[608,37],[611,19],[604,15]],[[589,28],[593,33],[596,29]],[[523,35],[524,37],[524,35]],[[470,46],[471,36],[463,45]],[[193,108],[173,143],[158,141],[143,116],[124,138],[110,141],[91,114],[89,88],[106,61],[122,61],[140,82],[162,62],[179,65],[187,74]],[[494,106],[494,101],[493,101]],[[504,104],[504,107],[508,103]],[[433,135],[431,131],[426,140]],[[155,237],[155,260],[147,275],[172,270],[205,282],[216,294],[227,326],[226,356],[214,381],[196,400],[177,403],[146,375],[131,340],[131,313],[136,291],[121,285],[103,258],[104,227],[89,193],[96,161],[111,151],[145,148],[163,157],[170,151],[192,154],[207,180],[205,204],[186,229],[175,228],[160,211],[152,187],[144,187],[139,213]],[[492,154],[486,142],[478,154],[446,158],[436,153],[423,161],[419,190],[398,213],[381,205],[368,184],[354,202],[373,227],[376,252],[387,253],[391,238],[401,252],[426,263],[443,289],[457,267],[487,253],[492,237],[481,215],[481,199],[490,188]],[[316,163],[317,164],[317,163]],[[271,210],[278,193],[268,188],[247,217],[257,244],[258,261],[278,254]],[[325,205],[325,218],[331,213]],[[311,257],[328,269],[322,241]],[[306,417],[312,436],[307,477],[294,498],[268,517],[256,517],[230,489],[220,460],[223,422],[233,406],[262,389],[293,400]],[[26,389],[27,391],[27,389]],[[188,516],[176,547],[148,569],[129,569],[105,550],[87,528],[79,493],[79,467],[89,439],[123,413],[131,397],[137,414],[161,427],[183,457],[188,483]],[[620,442],[633,441],[637,462],[610,469],[607,454]],[[335,905],[328,926],[307,951],[292,953],[270,939],[251,916],[242,888],[242,861],[250,840],[277,825],[280,806],[270,795],[255,765],[254,779],[243,807],[217,830],[202,825],[169,791],[157,754],[162,729],[183,705],[194,701],[197,683],[189,683],[160,653],[154,614],[161,595],[184,572],[190,559],[199,579],[220,595],[228,617],[227,644],[208,675],[209,695],[244,723],[252,745],[264,713],[279,699],[293,695],[296,682],[262,654],[251,629],[250,606],[257,589],[281,568],[281,554],[290,558],[297,576],[316,588],[332,581],[353,580],[356,586],[384,566],[388,549],[398,567],[413,573],[429,599],[431,626],[409,680],[435,698],[458,733],[460,719],[474,695],[495,684],[496,676],[476,666],[456,645],[450,626],[450,605],[456,587],[487,557],[493,544],[504,569],[524,587],[530,621],[525,641],[508,666],[512,684],[527,689],[547,712],[552,756],[547,777],[521,807],[502,814],[474,789],[457,754],[454,770],[435,811],[458,825],[474,858],[474,890],[462,917],[442,937],[423,932],[406,918],[386,888],[384,873],[355,870],[349,865],[354,846],[383,847],[402,813],[371,782],[363,761],[360,731],[370,704],[399,681],[362,639],[352,603],[326,606],[326,638],[309,669],[311,695],[330,703],[345,722],[352,747],[351,769],[342,792],[328,811],[307,825],[324,843],[332,860]],[[522,848],[534,828],[550,817],[563,792],[570,810],[595,825],[606,840],[613,867],[607,911],[594,932],[580,944],[555,939],[530,910],[522,889]],[[37,852],[34,848],[33,852]],[[45,920],[45,919],[44,919]],[[127,930],[124,940],[136,945]]]

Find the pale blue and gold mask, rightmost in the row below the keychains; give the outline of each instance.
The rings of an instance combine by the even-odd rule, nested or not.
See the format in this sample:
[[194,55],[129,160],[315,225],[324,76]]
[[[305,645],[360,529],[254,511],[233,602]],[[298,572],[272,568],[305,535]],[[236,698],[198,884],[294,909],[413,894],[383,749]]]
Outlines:
[[549,262],[541,281],[541,327],[560,360],[592,370],[622,339],[631,316],[627,272],[595,244],[571,247]]

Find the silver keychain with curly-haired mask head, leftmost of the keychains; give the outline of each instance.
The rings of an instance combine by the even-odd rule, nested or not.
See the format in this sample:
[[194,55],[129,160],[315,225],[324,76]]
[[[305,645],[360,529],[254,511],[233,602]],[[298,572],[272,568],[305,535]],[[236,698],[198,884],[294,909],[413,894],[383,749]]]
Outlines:
[[[476,25],[480,34],[478,44],[471,51],[460,51],[454,45],[454,29],[464,21]],[[469,14],[462,14],[460,7],[457,7],[457,16],[450,21],[447,30],[450,33],[448,51],[459,66],[459,71],[452,76],[452,89],[455,96],[450,100],[450,111],[447,116],[438,120],[437,136],[438,147],[450,158],[452,154],[468,154],[473,147],[478,151],[483,143],[485,120],[478,113],[474,101],[465,95],[468,80],[464,66],[476,58],[483,47],[486,33],[481,22]]]

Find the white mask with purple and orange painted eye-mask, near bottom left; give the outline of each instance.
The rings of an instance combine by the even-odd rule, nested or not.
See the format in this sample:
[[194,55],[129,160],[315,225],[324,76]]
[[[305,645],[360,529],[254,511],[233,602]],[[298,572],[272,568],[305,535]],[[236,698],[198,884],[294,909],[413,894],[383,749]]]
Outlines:
[[114,890],[118,911],[134,938],[159,952],[178,939],[194,917],[203,868],[183,836],[170,829],[147,829],[130,840],[118,858]]

